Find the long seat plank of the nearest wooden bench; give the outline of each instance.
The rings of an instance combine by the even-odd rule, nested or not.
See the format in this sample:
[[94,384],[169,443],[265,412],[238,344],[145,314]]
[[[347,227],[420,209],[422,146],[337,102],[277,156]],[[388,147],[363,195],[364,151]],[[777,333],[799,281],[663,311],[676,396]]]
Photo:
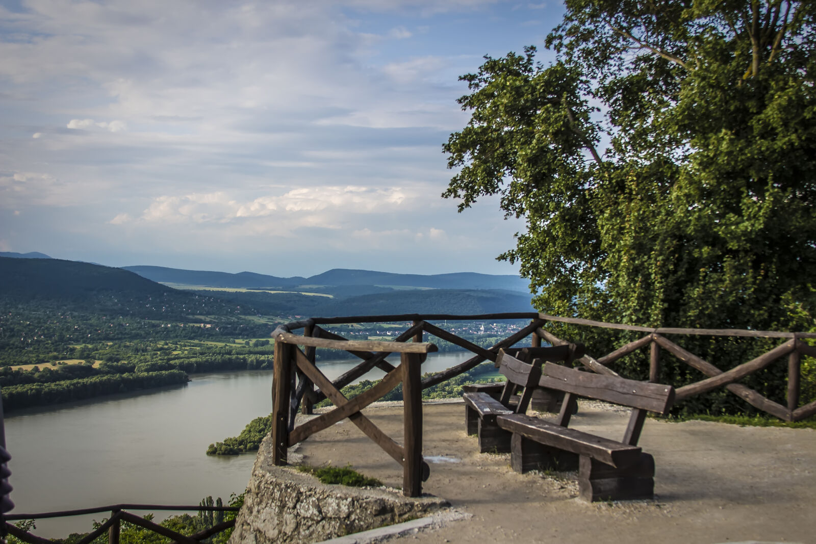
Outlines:
[[637,446],[561,427],[524,414],[501,415],[496,418],[496,422],[499,427],[530,440],[579,455],[588,455],[613,467],[627,467],[641,458],[641,449]]

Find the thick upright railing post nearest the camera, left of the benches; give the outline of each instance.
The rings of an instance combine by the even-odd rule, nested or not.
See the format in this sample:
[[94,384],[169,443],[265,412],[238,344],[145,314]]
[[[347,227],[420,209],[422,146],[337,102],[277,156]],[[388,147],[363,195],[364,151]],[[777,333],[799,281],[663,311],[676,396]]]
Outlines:
[[402,405],[405,426],[405,461],[402,464],[402,494],[422,494],[422,379],[418,353],[402,353]]

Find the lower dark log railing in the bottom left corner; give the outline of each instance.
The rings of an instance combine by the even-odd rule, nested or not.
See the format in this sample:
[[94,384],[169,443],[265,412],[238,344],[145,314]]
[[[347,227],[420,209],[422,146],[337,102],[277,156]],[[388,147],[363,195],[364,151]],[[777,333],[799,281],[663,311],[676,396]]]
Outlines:
[[148,529],[153,533],[162,535],[162,537],[171,538],[174,542],[182,544],[197,544],[202,542],[205,538],[212,537],[218,533],[223,533],[227,529],[235,526],[235,520],[226,520],[223,523],[215,524],[209,529],[202,529],[198,533],[185,536],[177,533],[166,527],[162,527],[150,520],[145,520],[139,515],[131,514],[128,510],[149,510],[149,511],[207,511],[207,512],[237,512],[240,510],[238,506],[167,506],[160,504],[114,504],[111,506],[96,506],[94,508],[82,508],[79,510],[66,510],[60,512],[44,512],[41,514],[7,514],[5,515],[5,530],[7,534],[19,538],[23,542],[29,544],[53,544],[47,538],[38,537],[20,529],[14,524],[9,523],[14,520],[44,520],[47,518],[61,518],[69,515],[87,515],[98,514],[100,512],[110,512],[110,517],[107,521],[101,524],[97,529],[91,533],[86,534],[76,544],[89,544],[108,533],[109,544],[119,543],[119,533],[122,521],[139,525],[144,529]]

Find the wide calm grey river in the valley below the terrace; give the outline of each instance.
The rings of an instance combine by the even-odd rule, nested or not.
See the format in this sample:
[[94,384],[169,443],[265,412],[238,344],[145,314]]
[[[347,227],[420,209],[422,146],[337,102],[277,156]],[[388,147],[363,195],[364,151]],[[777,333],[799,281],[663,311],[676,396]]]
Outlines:
[[[472,356],[432,353],[423,372]],[[393,361],[398,361],[398,357]],[[359,363],[318,363],[331,379]],[[366,378],[380,378],[372,372]],[[246,423],[272,411],[272,371],[192,374],[181,387],[98,397],[6,417],[14,487],[11,514],[64,511],[122,502],[196,505],[202,498],[241,493],[255,453],[216,457],[206,447],[237,436]],[[144,513],[144,512],[137,512]],[[195,514],[195,512],[190,512]],[[35,534],[64,537],[91,530],[108,515],[39,520]],[[157,513],[157,518],[162,518]]]

